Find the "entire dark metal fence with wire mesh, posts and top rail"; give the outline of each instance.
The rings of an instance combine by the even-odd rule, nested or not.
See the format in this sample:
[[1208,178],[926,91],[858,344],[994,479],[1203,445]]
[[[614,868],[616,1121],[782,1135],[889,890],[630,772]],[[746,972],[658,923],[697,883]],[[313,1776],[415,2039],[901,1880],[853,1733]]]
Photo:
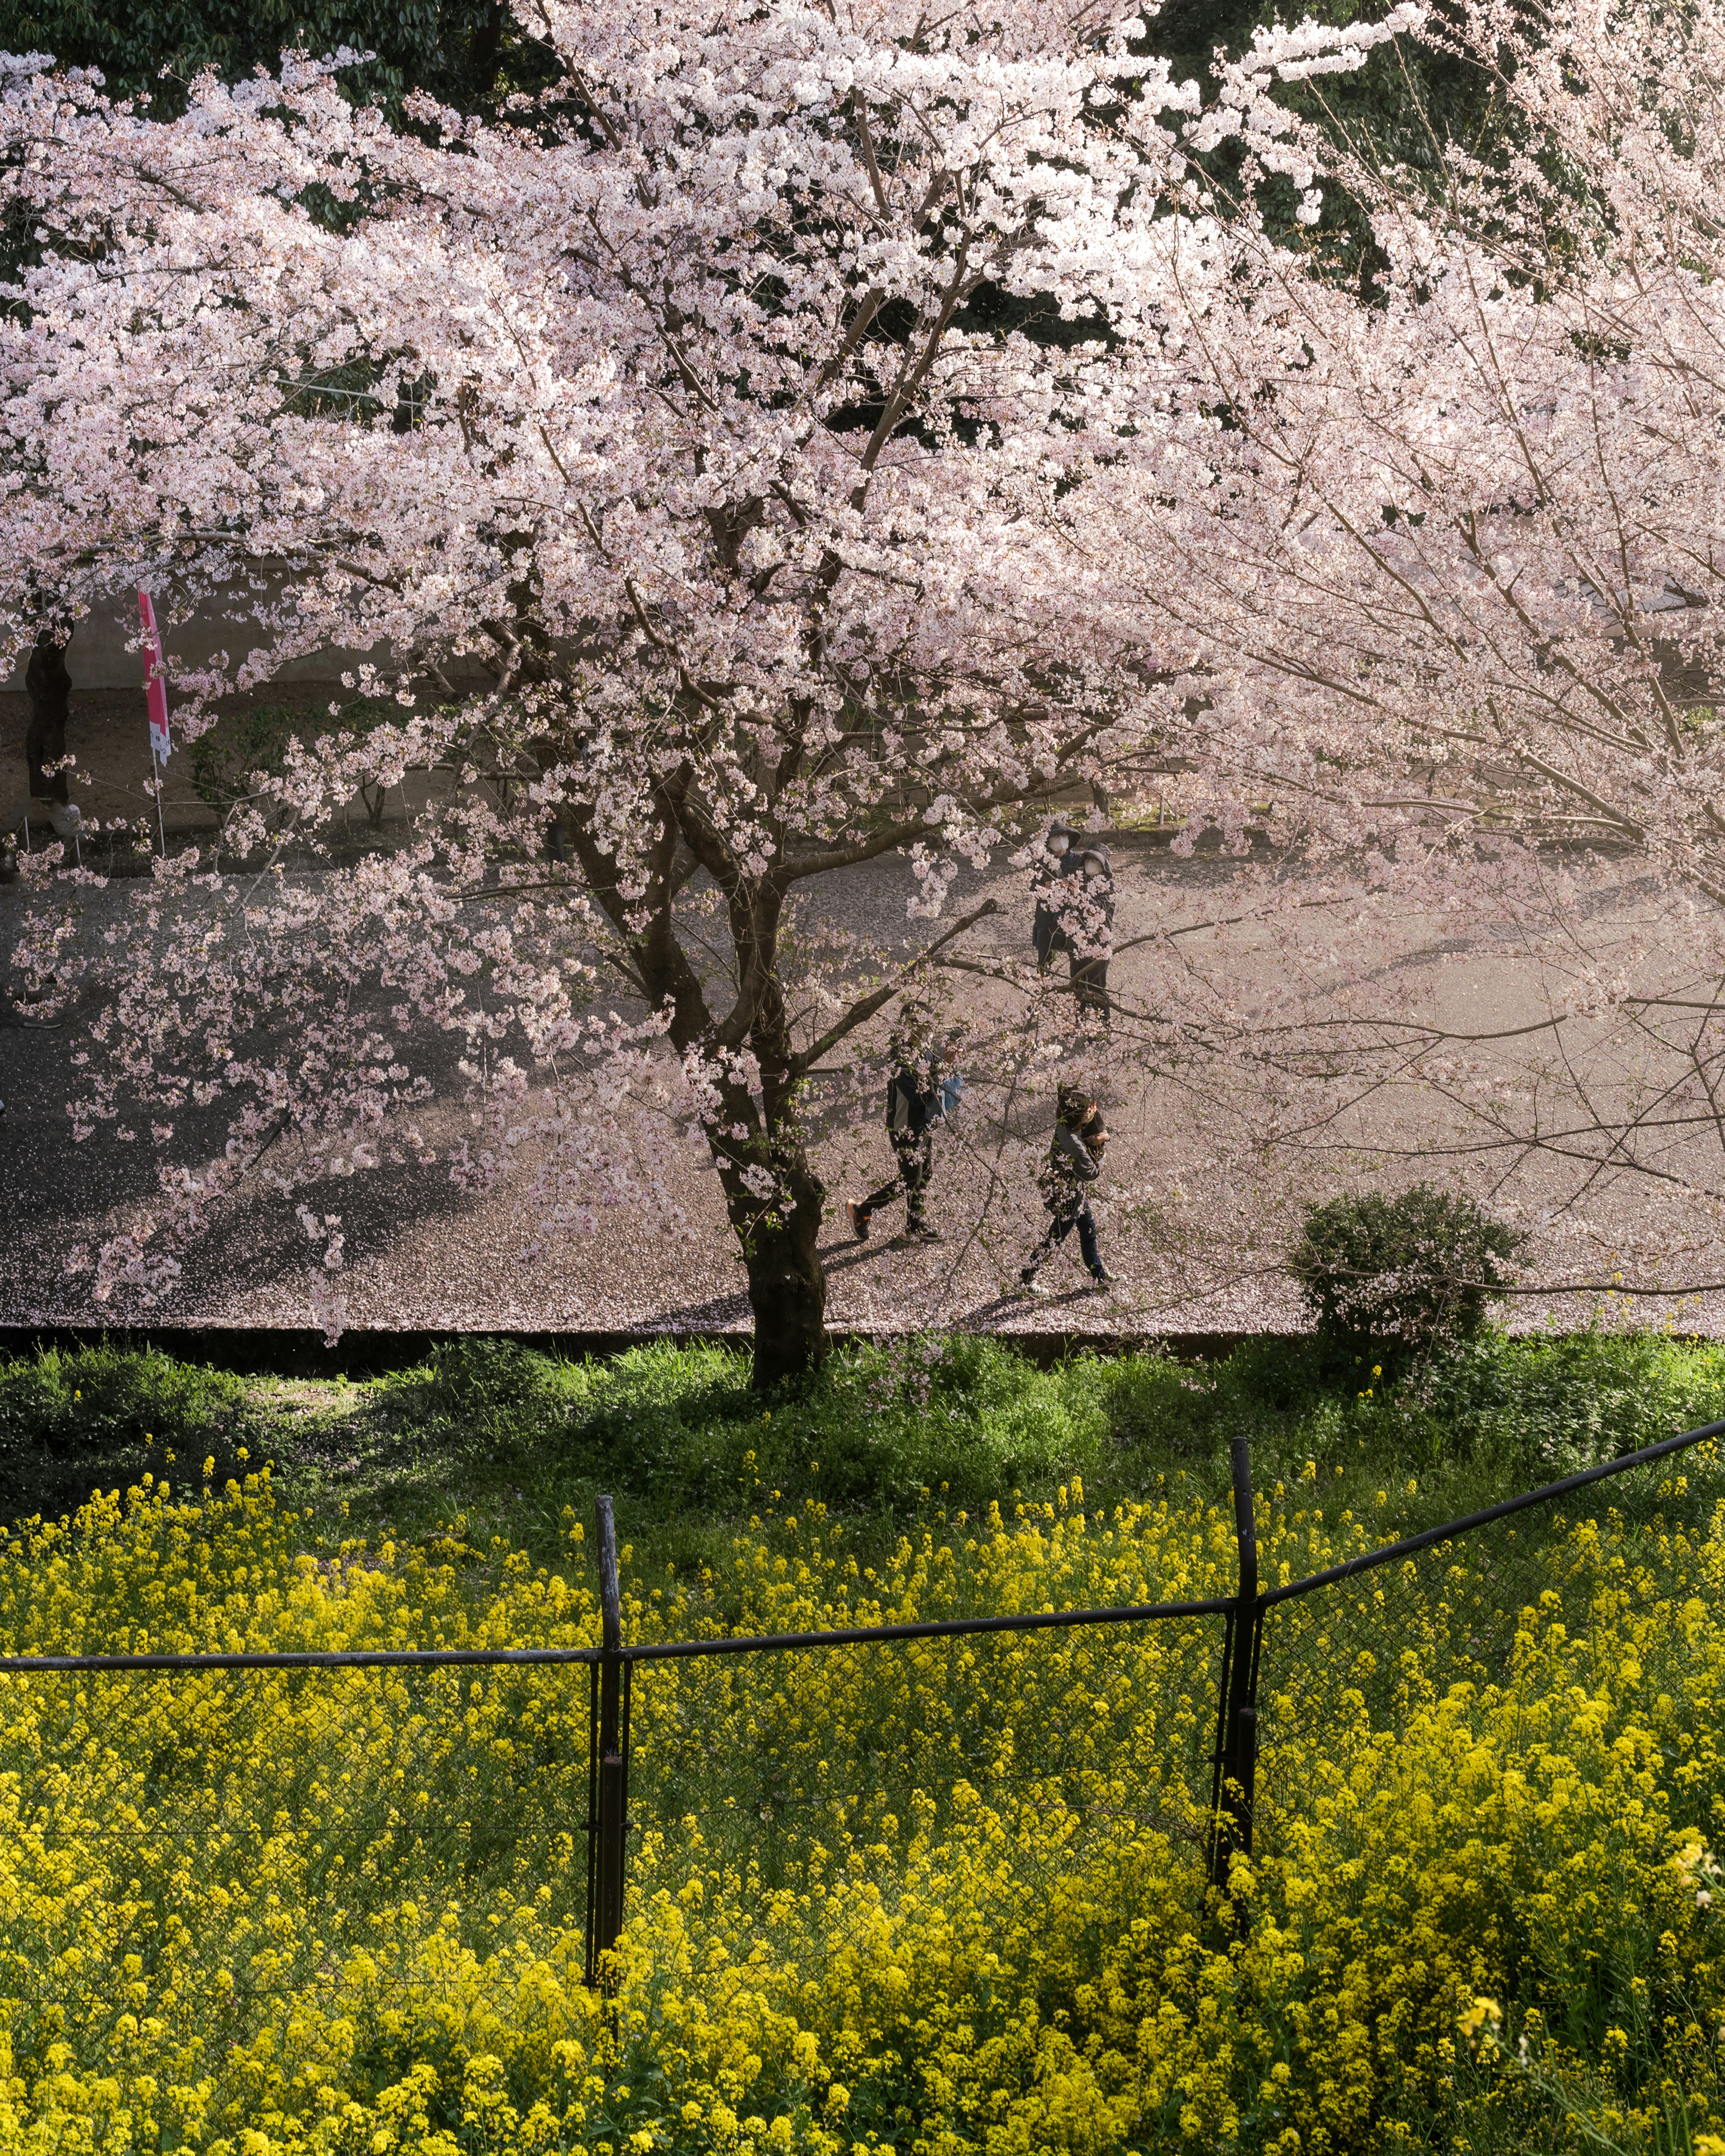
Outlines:
[[1268,1585],[1240,1440],[1210,1600],[625,1641],[606,1501],[593,1647],[4,1658],[0,1996],[88,2020],[136,1975],[239,2044],[270,2001],[423,1999],[511,1938],[604,1984],[658,1889],[765,1904],[966,1839],[1026,1895],[1156,1878],[1199,1919],[1238,1850],[1395,1802],[1423,1716],[1624,1606],[1686,1682],[1675,1455],[1721,1429],[1307,1576],[1279,1524]]

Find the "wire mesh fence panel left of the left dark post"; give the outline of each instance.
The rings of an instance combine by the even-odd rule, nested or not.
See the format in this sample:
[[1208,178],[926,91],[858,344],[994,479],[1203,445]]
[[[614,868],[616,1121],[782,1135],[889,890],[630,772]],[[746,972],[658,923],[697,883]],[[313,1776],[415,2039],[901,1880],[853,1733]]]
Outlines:
[[468,1664],[0,1675],[0,1994],[78,2020],[129,1973],[237,2031],[356,1958],[405,1986],[427,1934],[580,1927],[586,1695]]

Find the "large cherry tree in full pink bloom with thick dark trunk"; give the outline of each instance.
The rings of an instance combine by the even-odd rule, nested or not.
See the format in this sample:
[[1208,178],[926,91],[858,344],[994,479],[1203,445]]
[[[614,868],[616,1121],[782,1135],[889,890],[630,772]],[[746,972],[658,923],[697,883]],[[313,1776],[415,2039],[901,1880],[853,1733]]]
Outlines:
[[[1255,121],[1091,0],[524,22],[565,80],[498,125],[390,127],[334,63],[170,123],[6,63],[41,252],[0,345],[11,647],[32,591],[147,584],[233,621],[177,679],[190,733],[330,647],[373,696],[97,938],[50,849],[15,964],[95,998],[80,1134],[231,1108],[99,1294],[160,1294],[267,1177],[339,1324],[328,1177],[429,1151],[455,1039],[455,1173],[522,1175],[546,1231],[602,1201],[675,1231],[666,1160],[712,1153],[774,1382],[824,1352],[806,1078],[903,981],[794,981],[796,895],[903,852],[938,916],[957,862],[1167,757],[1199,638],[1110,627],[1074,498],[1192,444],[1210,485],[1201,332],[1251,315],[1182,144]],[[408,839],[336,860],[354,793],[410,783]]]

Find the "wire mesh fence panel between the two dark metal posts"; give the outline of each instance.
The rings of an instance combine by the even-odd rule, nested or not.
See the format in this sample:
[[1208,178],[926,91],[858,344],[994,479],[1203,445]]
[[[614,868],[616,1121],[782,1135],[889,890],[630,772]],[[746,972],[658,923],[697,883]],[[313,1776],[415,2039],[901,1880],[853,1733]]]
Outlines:
[[[957,1822],[1067,1846],[1145,1837],[1203,1884],[1220,1604],[1033,1613],[630,1654],[630,1815],[675,1863],[699,1835],[763,1889],[811,1852],[899,1861]],[[634,1863],[634,1854],[632,1854]]]

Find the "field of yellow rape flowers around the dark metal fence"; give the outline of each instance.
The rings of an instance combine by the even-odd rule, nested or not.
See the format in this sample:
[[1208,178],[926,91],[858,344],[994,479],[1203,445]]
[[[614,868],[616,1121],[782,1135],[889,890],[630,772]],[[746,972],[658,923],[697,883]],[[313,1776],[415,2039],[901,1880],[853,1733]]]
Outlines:
[[[1272,1611],[1227,1897],[1214,1617],[640,1664],[608,1996],[584,1667],[0,1675],[0,2150],[1706,2156],[1725,1503],[1680,1466]],[[565,1529],[319,1557],[265,1473],[151,1483],[13,1533],[0,1647],[593,1645]],[[1259,1539],[1274,1585],[1384,1537],[1313,1479]],[[1236,1550],[1171,1475],[623,1574],[645,1643],[1203,1600]]]

